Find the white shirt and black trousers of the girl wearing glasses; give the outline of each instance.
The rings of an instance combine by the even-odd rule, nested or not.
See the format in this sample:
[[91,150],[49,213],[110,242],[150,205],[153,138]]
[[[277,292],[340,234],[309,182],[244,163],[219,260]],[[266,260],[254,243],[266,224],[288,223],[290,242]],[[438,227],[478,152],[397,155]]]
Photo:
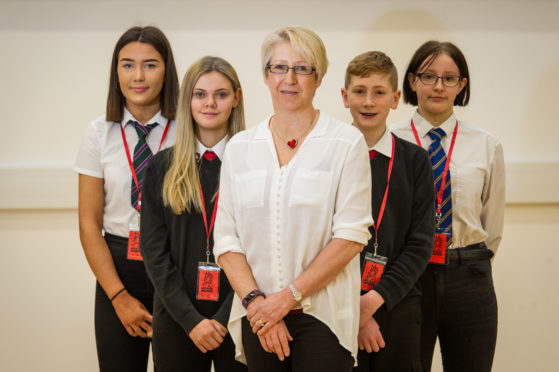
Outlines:
[[[434,127],[419,113],[413,116],[424,148]],[[439,128],[441,146],[451,154],[452,235],[447,264],[429,264],[420,278],[422,299],[422,364],[429,371],[437,339],[443,366],[449,371],[490,371],[497,337],[497,301],[490,258],[503,232],[505,171],[503,149],[486,131],[451,115]],[[392,131],[416,143],[410,120]]]

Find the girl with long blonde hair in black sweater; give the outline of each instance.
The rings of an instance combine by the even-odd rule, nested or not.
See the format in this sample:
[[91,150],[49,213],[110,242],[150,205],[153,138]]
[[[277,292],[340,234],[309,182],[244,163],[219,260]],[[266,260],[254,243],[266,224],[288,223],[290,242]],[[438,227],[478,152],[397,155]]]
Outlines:
[[226,328],[233,291],[212,253],[218,178],[227,140],[244,129],[233,67],[203,57],[186,72],[176,145],[144,179],[140,251],[155,288],[153,355],[159,372],[245,371]]

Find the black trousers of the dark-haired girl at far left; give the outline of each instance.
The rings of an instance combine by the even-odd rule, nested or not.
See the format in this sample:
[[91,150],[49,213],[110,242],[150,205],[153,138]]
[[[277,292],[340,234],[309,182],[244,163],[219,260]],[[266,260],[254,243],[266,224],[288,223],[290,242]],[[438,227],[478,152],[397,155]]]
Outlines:
[[[146,274],[144,263],[126,258],[128,239],[106,234],[105,240],[124,287],[131,296],[152,312],[153,286]],[[99,283],[95,290],[95,340],[101,372],[146,371],[150,340],[132,337],[126,332]]]

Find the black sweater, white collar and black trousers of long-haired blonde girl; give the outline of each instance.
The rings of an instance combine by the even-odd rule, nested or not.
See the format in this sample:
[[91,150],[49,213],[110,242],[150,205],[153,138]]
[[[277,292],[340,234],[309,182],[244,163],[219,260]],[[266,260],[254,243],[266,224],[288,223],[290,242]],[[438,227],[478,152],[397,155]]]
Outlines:
[[[227,138],[214,148],[217,157],[198,156],[200,185],[211,228],[212,212],[219,184],[221,160]],[[198,143],[198,153],[205,148]],[[227,326],[233,290],[223,271],[219,273],[219,291],[215,300],[198,299],[204,277],[199,277],[199,262],[215,263],[210,233],[210,255],[206,255],[206,228],[202,213],[191,209],[177,215],[163,204],[163,182],[172,160],[172,149],[155,156],[144,177],[140,251],[155,287],[153,309],[153,355],[158,372],[246,371],[235,361],[235,347],[229,335],[215,350],[202,353],[188,336],[204,319],[215,319]]]

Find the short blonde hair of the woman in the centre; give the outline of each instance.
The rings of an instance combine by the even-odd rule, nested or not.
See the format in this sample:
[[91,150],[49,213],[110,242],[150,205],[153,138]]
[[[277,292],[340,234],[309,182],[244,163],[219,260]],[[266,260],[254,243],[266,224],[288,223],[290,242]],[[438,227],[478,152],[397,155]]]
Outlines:
[[262,73],[267,74],[267,65],[270,63],[276,44],[288,41],[293,48],[301,53],[308,63],[316,69],[316,80],[320,81],[328,70],[328,57],[326,48],[320,36],[303,27],[285,27],[272,32],[262,43]]

